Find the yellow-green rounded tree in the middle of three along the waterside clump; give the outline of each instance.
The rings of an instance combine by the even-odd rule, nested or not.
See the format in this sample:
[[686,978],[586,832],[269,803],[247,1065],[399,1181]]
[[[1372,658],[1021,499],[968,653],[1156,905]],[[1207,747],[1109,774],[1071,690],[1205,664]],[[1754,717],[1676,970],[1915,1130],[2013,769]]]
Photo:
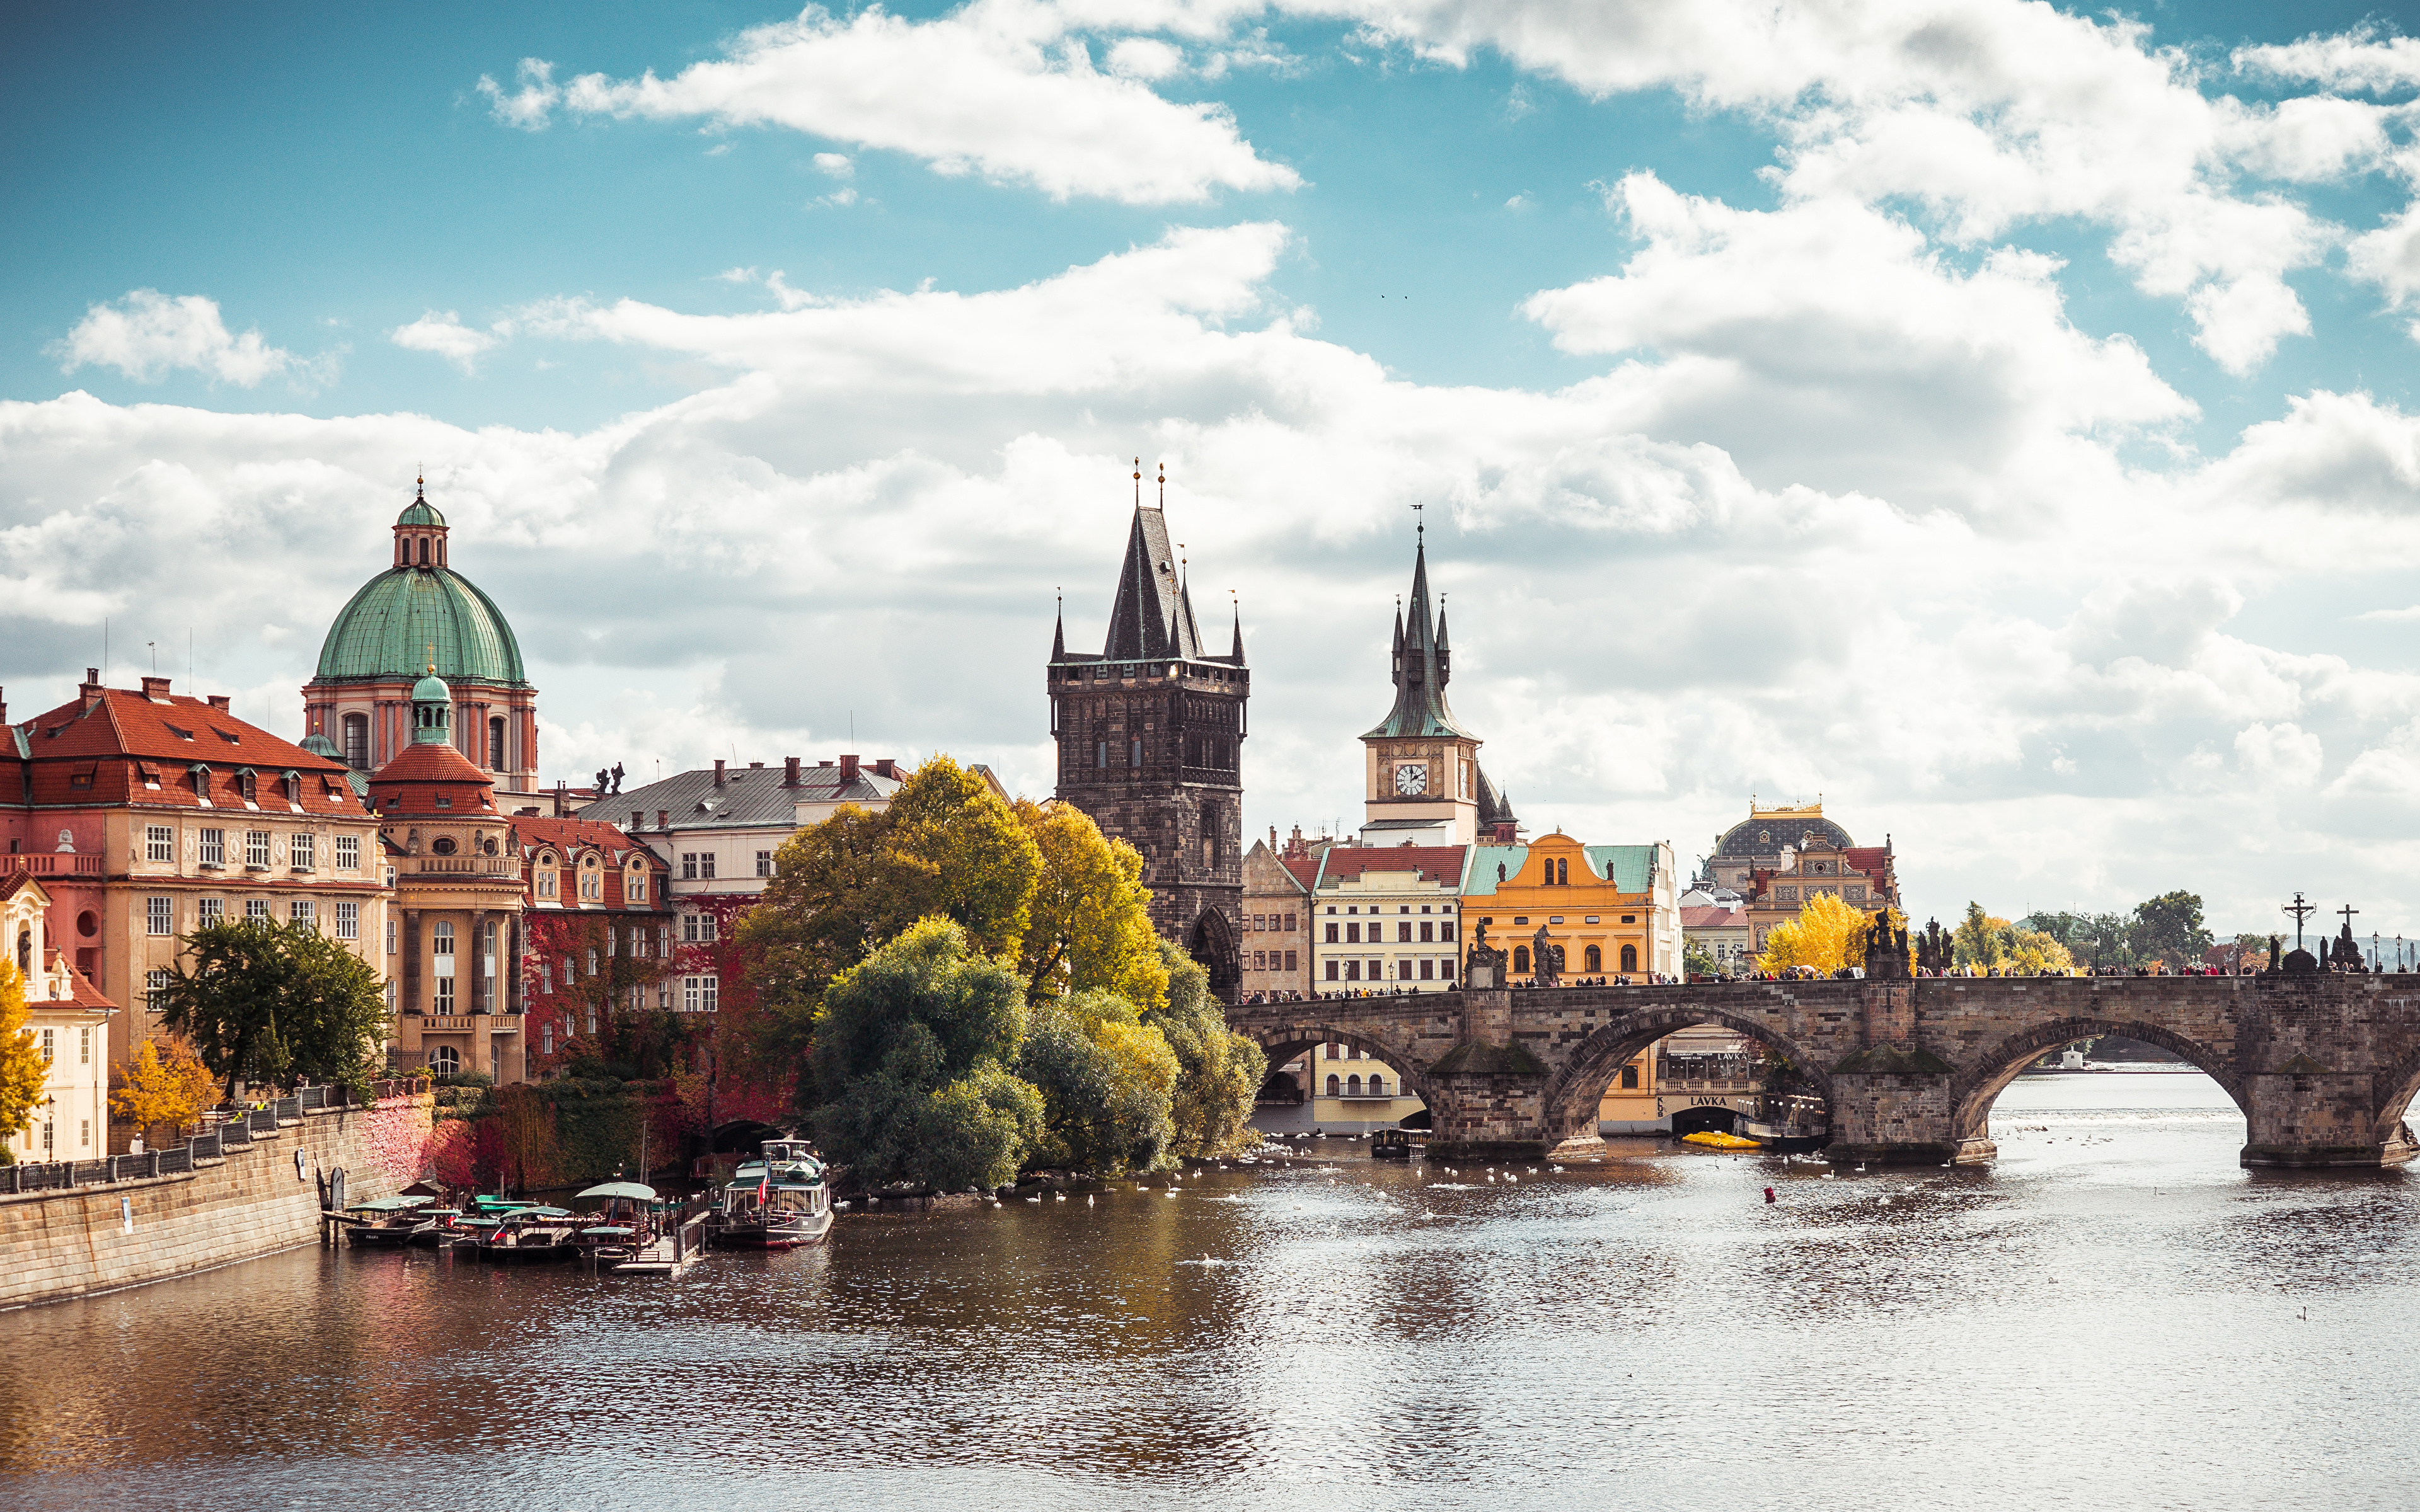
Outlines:
[[1116,992],[1036,1004],[1016,1074],[1043,1093],[1028,1166],[1150,1171],[1176,1137],[1176,1052]]

